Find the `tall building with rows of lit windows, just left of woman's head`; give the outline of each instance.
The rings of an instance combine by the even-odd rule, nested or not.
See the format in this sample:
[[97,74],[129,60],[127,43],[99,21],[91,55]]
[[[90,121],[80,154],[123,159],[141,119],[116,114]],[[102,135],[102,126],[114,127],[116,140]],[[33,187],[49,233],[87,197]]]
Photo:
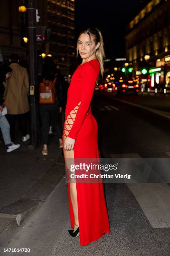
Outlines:
[[75,56],[75,0],[47,0],[51,29],[45,54],[51,54],[62,74],[69,74]]

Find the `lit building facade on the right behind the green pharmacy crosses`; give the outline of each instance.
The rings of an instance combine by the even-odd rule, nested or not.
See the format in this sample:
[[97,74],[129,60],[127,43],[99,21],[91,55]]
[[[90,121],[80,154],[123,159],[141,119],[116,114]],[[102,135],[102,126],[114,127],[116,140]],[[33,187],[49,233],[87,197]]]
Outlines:
[[148,87],[170,87],[170,1],[151,0],[125,36],[126,58],[133,76]]

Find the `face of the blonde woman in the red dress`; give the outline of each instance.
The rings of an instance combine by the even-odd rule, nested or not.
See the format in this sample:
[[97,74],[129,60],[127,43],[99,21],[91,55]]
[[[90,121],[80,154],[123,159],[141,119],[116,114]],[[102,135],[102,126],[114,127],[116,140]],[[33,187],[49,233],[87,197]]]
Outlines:
[[83,33],[80,35],[78,39],[78,51],[82,59],[88,59],[88,56],[92,56],[95,54],[96,48],[100,43],[95,45],[94,36],[91,36],[91,47],[90,47],[90,37],[87,33]]

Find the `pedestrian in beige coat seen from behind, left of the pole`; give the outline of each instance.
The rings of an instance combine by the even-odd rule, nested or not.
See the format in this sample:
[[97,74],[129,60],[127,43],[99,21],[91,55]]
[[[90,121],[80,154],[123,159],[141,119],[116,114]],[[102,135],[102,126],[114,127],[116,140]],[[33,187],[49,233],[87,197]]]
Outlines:
[[28,73],[26,68],[20,66],[18,55],[11,55],[9,61],[13,71],[11,78],[5,84],[5,106],[7,107],[7,120],[10,123],[10,135],[14,142],[15,123],[18,117],[23,141],[27,141],[30,138],[27,134],[27,115],[30,110]]

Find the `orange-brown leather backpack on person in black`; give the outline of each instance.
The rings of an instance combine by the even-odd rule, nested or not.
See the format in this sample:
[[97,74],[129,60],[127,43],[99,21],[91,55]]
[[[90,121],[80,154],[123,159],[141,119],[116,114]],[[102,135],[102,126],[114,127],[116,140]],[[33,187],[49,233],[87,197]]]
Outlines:
[[40,83],[40,104],[55,104],[57,100],[57,95],[55,91],[55,82],[54,81],[46,81],[43,79],[43,82]]

